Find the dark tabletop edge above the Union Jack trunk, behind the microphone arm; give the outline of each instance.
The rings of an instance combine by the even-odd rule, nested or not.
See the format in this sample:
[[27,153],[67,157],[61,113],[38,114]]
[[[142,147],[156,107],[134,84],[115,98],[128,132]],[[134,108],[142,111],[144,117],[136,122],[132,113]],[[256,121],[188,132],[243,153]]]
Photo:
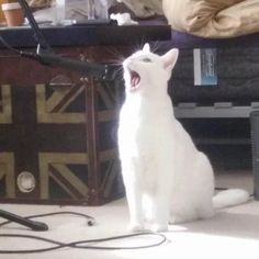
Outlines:
[[[42,27],[47,42],[54,47],[90,45],[133,45],[150,41],[168,41],[168,25],[131,26],[49,26]],[[0,29],[1,36],[13,47],[35,47],[36,42],[30,27]],[[0,44],[0,47],[3,47]]]

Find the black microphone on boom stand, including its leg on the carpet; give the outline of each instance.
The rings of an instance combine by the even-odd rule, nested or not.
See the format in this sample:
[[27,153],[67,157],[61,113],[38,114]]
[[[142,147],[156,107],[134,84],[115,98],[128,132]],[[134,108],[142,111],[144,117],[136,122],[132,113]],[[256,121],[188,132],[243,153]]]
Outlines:
[[[38,43],[36,53],[27,53],[27,52],[21,50],[20,55],[22,57],[34,59],[44,66],[60,67],[60,68],[82,72],[87,77],[99,79],[99,80],[115,79],[116,70],[117,70],[117,66],[115,65],[93,64],[93,63],[82,61],[78,59],[64,58],[55,54],[52,47],[48,45],[43,33],[41,32],[27,2],[25,0],[19,0],[19,2],[22,5],[25,16],[27,18],[29,23],[34,32],[33,36]],[[19,223],[23,226],[32,228],[33,230],[43,232],[43,230],[48,229],[48,226],[45,223],[31,221],[31,219],[12,214],[3,210],[0,210],[0,217],[3,217],[11,222]],[[0,224],[0,226],[1,225],[4,225],[4,223]]]

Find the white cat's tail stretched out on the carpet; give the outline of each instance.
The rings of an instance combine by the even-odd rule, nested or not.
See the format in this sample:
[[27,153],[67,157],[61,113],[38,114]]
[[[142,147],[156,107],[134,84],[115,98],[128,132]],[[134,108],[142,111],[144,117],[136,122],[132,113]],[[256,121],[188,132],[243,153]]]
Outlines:
[[212,201],[214,209],[223,209],[245,203],[249,200],[249,193],[243,189],[229,189],[216,193]]

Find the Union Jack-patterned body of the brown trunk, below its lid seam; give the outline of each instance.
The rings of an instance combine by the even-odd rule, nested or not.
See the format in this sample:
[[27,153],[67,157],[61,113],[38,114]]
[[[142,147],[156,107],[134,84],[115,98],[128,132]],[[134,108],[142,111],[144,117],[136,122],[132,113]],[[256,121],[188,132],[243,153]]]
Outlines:
[[123,195],[122,92],[106,81],[2,85],[0,202],[91,205]]

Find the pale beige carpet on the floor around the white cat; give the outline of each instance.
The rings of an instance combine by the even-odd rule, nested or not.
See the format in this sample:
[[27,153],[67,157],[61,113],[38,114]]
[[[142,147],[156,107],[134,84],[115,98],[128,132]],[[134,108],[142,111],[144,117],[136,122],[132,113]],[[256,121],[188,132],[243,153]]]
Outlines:
[[[241,187],[252,191],[251,172],[222,172],[216,176],[218,187]],[[127,207],[125,200],[119,200],[99,207],[83,206],[41,206],[2,204],[8,210],[21,215],[35,213],[75,211],[95,217],[95,226],[89,227],[86,219],[77,216],[55,216],[42,218],[50,227],[45,233],[34,233],[19,225],[11,224],[0,228],[0,234],[41,235],[60,241],[101,238],[126,234]],[[1,222],[1,219],[0,219]],[[184,225],[170,226],[165,234],[167,244],[160,247],[142,250],[79,250],[65,248],[46,254],[34,255],[0,255],[0,259],[31,259],[31,258],[63,258],[63,259],[102,259],[102,258],[248,258],[257,257],[259,252],[259,202],[250,201],[246,204],[217,212],[216,216],[207,221],[196,221]],[[135,239],[115,241],[103,245],[147,245],[156,239],[138,237]],[[40,248],[49,245],[22,239],[0,239],[0,249]]]

